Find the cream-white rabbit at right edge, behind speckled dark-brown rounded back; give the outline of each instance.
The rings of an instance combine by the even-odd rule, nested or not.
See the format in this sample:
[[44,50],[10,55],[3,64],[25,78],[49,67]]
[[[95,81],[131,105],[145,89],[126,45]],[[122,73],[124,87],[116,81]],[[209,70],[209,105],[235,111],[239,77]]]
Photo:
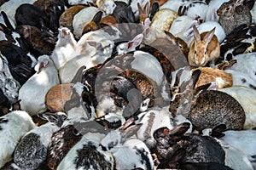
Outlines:
[[226,94],[230,94],[240,103],[246,113],[246,122],[243,126],[244,129],[256,127],[256,90],[239,86],[222,88],[218,90]]

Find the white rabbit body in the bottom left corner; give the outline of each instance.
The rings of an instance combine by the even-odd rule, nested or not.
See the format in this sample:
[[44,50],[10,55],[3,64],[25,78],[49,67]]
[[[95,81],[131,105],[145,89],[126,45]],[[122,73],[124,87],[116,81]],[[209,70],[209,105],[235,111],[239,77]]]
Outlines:
[[8,120],[7,123],[0,123],[1,151],[0,151],[0,168],[12,159],[12,153],[15,150],[20,138],[33,128],[35,128],[32,117],[26,111],[12,111],[1,119]]

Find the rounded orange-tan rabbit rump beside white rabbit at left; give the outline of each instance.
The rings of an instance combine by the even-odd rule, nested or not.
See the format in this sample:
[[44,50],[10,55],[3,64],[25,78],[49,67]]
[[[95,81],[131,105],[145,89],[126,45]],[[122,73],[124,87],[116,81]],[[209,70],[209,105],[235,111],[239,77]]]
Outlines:
[[59,84],[45,95],[45,105],[50,112],[64,111],[65,103],[71,99],[73,83]]

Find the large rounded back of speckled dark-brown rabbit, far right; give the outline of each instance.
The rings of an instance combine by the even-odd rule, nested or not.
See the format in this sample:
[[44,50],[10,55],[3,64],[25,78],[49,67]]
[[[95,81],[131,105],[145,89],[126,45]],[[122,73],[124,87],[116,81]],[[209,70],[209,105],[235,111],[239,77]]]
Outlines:
[[228,129],[241,130],[245,118],[245,112],[236,99],[229,94],[213,90],[200,94],[188,116],[199,131],[219,124],[225,124]]

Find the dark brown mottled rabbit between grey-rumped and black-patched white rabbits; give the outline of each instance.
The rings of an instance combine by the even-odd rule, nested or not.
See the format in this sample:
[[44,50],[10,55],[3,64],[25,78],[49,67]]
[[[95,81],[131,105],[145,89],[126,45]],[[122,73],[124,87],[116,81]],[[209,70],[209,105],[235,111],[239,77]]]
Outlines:
[[69,150],[73,148],[87,133],[104,133],[106,128],[99,122],[66,120],[60,130],[51,136],[47,150],[47,165],[49,169],[56,169],[62,159],[67,156]]

